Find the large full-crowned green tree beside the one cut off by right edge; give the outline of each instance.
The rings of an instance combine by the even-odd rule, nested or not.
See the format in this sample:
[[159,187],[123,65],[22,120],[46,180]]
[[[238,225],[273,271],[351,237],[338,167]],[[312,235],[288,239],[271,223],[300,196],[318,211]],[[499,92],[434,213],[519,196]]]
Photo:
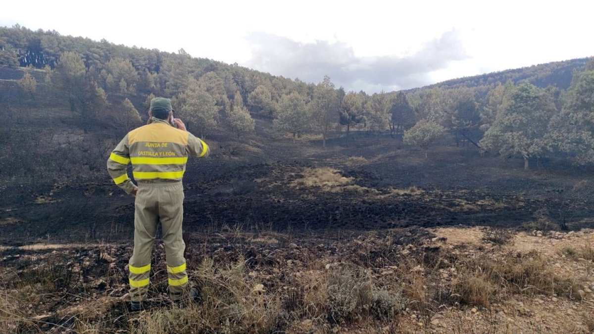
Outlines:
[[496,150],[502,157],[522,156],[524,168],[529,169],[530,157],[541,156],[548,149],[549,121],[555,113],[548,94],[532,84],[517,86],[486,131],[481,146]]

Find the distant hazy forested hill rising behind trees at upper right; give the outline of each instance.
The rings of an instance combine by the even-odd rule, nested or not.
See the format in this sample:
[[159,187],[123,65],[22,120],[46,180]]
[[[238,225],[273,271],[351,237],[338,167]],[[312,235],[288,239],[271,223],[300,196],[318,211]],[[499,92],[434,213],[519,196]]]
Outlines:
[[474,75],[446,80],[423,88],[440,87],[443,89],[459,87],[493,87],[497,83],[506,83],[508,80],[514,84],[527,81],[536,87],[545,88],[554,86],[559,89],[568,89],[574,71],[583,70],[589,58],[555,61],[546,64],[532,65],[529,67],[514,68],[500,72]]

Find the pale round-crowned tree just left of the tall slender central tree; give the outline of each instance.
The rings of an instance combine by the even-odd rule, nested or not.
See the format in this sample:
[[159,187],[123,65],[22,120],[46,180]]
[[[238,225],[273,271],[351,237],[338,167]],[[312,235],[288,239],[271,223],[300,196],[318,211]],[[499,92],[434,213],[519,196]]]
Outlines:
[[305,133],[309,125],[309,112],[304,98],[296,92],[280,98],[277,117],[273,121],[274,130],[293,134],[293,141]]

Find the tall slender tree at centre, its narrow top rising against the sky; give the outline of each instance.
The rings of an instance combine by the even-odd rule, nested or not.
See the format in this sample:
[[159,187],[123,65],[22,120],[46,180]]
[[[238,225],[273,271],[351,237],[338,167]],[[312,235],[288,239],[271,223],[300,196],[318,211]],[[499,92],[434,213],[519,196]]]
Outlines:
[[314,99],[309,103],[314,127],[323,138],[323,147],[326,147],[328,131],[338,121],[339,99],[330,77],[324,76],[314,89]]

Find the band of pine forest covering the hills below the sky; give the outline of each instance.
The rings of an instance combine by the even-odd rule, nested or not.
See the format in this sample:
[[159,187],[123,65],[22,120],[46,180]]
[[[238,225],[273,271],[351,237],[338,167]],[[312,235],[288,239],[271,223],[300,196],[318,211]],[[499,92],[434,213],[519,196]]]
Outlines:
[[[252,116],[260,115],[272,119],[278,133],[293,138],[318,134],[324,146],[336,133],[348,145],[350,132],[363,130],[378,141],[390,136],[427,154],[445,132],[457,144],[523,157],[526,168],[530,159],[551,155],[576,164],[594,161],[594,65],[584,63],[577,59],[491,75],[507,78],[505,82],[478,76],[470,78],[478,80],[471,87],[467,84],[472,80],[459,79],[407,92],[367,94],[345,92],[329,77],[304,83],[193,58],[183,49],[167,53],[55,31],[0,28],[0,65],[29,68],[18,81],[24,94],[35,98],[41,70],[31,68],[42,69],[41,80],[68,97],[86,131],[106,119],[135,127],[140,124],[138,109],[144,114],[151,97],[166,96],[202,137],[223,129],[241,138],[254,132]],[[570,68],[567,89],[531,83],[545,83],[551,73],[567,76]]]

